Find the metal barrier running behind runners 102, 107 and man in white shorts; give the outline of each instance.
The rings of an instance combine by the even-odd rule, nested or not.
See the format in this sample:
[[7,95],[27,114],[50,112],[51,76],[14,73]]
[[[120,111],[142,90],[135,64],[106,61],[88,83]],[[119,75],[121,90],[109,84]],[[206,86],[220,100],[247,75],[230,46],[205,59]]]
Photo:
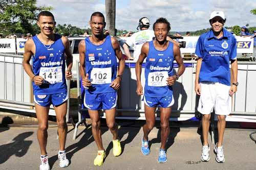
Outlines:
[[[174,100],[173,111],[170,120],[189,120],[194,119],[197,114],[199,96],[196,95],[195,77],[196,61],[184,61],[187,65],[184,74],[173,85]],[[232,98],[232,112],[227,116],[227,121],[235,122],[256,122],[256,62],[238,62],[238,92]],[[144,102],[136,93],[136,74],[135,62],[126,61],[125,70],[118,91],[118,104],[116,118],[121,119],[145,119]],[[77,73],[79,73],[79,61],[76,62]],[[177,68],[175,68],[177,70]],[[141,74],[142,86],[144,86],[144,68]],[[80,89],[80,75],[77,74],[77,89]],[[82,107],[81,91],[77,90],[78,96],[78,123],[75,127],[73,139],[76,138],[77,128],[83,122],[81,113],[87,111]],[[105,113],[100,113],[105,118]],[[159,112],[156,119],[159,120]]]

